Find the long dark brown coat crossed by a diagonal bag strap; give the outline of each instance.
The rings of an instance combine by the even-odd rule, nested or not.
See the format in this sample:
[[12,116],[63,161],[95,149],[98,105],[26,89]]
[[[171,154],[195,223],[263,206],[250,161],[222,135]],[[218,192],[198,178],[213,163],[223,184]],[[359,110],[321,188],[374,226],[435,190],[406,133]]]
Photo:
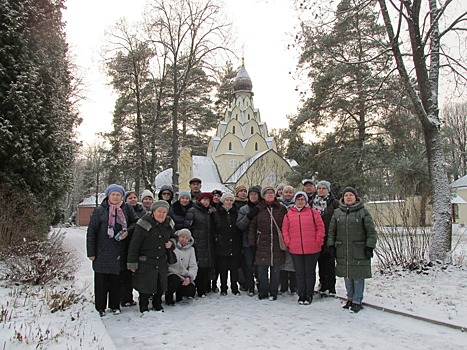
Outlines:
[[272,210],[272,216],[280,228],[284,215],[287,214],[287,208],[277,198],[272,204],[262,202],[258,206],[260,211],[251,221],[248,230],[250,246],[256,245],[255,264],[281,266],[285,262],[285,252],[280,249],[276,224],[268,209]]

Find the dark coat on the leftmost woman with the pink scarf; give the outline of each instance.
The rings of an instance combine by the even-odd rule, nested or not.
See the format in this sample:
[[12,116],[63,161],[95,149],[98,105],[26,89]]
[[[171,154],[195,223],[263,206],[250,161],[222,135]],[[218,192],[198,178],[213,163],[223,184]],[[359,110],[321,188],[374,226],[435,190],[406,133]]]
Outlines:
[[[107,233],[109,226],[108,198],[105,198],[93,211],[89,221],[86,233],[87,256],[95,257],[92,262],[92,268],[97,273],[118,275],[120,271],[126,270],[128,244],[138,217],[130,204],[123,203],[120,208],[127,222],[128,236],[125,239],[116,241],[113,237],[109,237]],[[122,226],[116,223],[114,234],[117,234],[121,229]]]

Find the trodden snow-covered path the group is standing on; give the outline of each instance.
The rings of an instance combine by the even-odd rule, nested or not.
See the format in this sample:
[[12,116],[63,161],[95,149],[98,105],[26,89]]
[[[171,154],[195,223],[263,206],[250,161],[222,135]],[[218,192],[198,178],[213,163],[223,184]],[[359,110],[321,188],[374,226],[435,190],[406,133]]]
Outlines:
[[[88,288],[92,292],[92,271],[84,254],[85,229],[67,231],[67,241],[72,242],[84,259],[77,277],[91,282]],[[359,314],[350,314],[341,309],[338,299],[315,298],[310,306],[298,305],[296,297],[289,295],[270,302],[245,294],[237,297],[208,294],[206,299],[165,306],[164,313],[151,311],[144,318],[137,307],[124,308],[120,316],[109,315],[102,322],[117,349],[135,346],[139,349],[311,349],[316,345],[335,349],[467,347],[467,334],[458,330],[369,307]]]

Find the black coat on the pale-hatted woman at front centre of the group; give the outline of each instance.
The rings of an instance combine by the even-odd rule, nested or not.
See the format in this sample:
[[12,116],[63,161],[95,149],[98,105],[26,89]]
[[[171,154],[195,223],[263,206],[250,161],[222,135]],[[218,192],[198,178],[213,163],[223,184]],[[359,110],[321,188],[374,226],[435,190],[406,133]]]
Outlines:
[[218,256],[240,256],[242,254],[242,233],[237,228],[237,209],[227,211],[224,206],[217,210],[218,226],[214,235]]

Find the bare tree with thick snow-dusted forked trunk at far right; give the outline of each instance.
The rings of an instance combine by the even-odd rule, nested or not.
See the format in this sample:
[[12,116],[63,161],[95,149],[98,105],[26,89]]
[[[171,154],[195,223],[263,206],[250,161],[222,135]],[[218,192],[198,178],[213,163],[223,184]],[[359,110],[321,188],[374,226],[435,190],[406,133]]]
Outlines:
[[[444,66],[465,79],[462,57],[449,54],[442,41],[452,33],[465,41],[467,12],[464,7],[449,21],[446,11],[453,0],[378,0],[378,3],[399,76],[424,132],[433,203],[430,259],[450,260],[451,203],[438,91],[440,69]],[[405,32],[408,41],[401,37]]]

